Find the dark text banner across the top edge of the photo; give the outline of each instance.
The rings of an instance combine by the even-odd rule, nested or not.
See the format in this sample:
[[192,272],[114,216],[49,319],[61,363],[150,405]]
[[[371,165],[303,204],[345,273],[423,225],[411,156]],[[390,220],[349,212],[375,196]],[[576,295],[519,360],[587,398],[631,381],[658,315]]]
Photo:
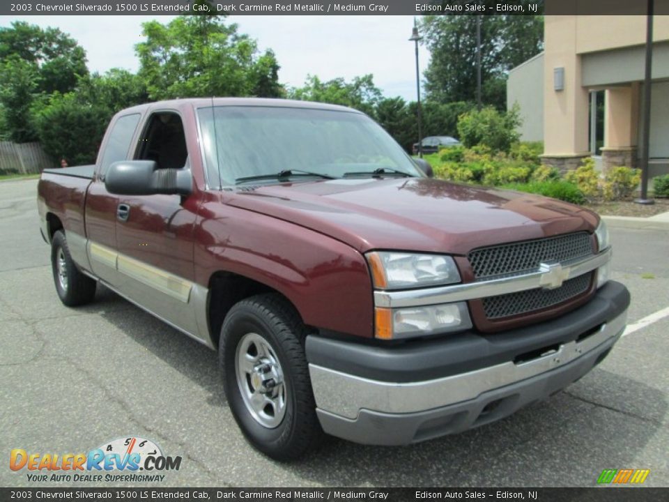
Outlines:
[[[654,0],[669,14],[669,0]],[[645,15],[647,0],[3,0],[0,15]]]

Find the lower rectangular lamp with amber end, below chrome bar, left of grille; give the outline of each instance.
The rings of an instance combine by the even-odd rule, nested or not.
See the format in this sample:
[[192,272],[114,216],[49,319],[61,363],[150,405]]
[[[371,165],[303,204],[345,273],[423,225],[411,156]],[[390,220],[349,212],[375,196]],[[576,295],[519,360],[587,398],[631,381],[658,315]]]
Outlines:
[[472,327],[466,302],[401,309],[376,307],[376,337],[400,340]]

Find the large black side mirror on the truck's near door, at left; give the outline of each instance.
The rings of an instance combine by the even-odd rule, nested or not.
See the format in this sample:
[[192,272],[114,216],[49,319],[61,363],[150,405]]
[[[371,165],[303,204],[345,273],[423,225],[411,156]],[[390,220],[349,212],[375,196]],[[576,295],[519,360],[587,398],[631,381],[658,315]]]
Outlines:
[[190,169],[158,169],[154,160],[122,160],[107,170],[105,188],[116,195],[189,195]]

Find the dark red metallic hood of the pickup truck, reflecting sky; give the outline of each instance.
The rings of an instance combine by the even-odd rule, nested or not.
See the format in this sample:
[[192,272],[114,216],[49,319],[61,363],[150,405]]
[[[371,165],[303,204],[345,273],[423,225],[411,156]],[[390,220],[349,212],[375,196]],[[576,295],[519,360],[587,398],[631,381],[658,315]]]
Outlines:
[[247,186],[224,197],[226,204],[313,229],[360,252],[466,254],[484,245],[592,232],[598,222],[591,211],[555,199],[430,178]]

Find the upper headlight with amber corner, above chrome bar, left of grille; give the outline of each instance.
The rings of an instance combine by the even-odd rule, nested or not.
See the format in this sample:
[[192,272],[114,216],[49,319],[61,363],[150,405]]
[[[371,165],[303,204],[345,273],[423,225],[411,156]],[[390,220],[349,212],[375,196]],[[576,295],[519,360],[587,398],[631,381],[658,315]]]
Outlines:
[[452,257],[443,254],[371,252],[367,254],[374,287],[401,289],[460,282]]

